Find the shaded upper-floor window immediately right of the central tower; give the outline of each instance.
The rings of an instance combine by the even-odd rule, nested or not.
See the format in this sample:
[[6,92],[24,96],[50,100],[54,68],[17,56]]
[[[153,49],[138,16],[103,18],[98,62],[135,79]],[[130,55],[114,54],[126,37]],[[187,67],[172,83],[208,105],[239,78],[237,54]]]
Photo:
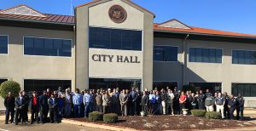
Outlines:
[[177,61],[177,47],[154,46],[154,60]]

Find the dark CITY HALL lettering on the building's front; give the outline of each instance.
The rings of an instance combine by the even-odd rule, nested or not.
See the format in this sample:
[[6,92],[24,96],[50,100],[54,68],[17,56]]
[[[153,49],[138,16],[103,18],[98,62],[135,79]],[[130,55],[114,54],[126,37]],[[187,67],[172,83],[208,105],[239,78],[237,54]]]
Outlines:
[[141,63],[138,56],[92,54],[91,59],[96,62]]

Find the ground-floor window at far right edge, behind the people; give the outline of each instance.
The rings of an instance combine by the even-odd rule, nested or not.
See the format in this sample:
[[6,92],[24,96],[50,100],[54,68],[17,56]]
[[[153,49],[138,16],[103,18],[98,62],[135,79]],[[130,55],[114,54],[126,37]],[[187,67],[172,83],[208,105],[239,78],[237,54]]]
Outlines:
[[241,94],[245,97],[256,96],[256,83],[232,83],[232,94]]

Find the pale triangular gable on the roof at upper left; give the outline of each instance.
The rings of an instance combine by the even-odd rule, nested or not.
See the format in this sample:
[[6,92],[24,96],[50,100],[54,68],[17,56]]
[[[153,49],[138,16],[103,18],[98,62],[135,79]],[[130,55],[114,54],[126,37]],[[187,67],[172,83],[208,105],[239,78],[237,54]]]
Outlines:
[[44,14],[41,14],[35,9],[31,9],[23,4],[10,9],[3,9],[0,11],[0,14],[20,14],[20,15],[45,17]]

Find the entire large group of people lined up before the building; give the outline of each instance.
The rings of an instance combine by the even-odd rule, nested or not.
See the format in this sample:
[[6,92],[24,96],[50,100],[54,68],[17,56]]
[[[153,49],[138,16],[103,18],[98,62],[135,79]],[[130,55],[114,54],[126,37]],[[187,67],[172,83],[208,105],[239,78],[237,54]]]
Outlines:
[[5,123],[14,122],[16,125],[18,122],[28,122],[29,110],[32,114],[31,123],[61,122],[63,117],[88,117],[92,111],[102,111],[104,114],[113,112],[127,117],[140,115],[141,112],[150,115],[182,115],[183,109],[189,113],[195,109],[218,111],[222,118],[242,120],[244,99],[241,94],[235,98],[233,94],[211,94],[208,89],[205,94],[202,90],[193,93],[168,87],[150,91],[145,88],[143,92],[139,88],[121,91],[119,88],[86,89],[81,92],[76,88],[73,93],[71,88],[62,91],[59,87],[53,92],[47,88],[40,96],[33,92],[31,97],[25,91],[21,91],[16,98],[9,92],[4,105]]

